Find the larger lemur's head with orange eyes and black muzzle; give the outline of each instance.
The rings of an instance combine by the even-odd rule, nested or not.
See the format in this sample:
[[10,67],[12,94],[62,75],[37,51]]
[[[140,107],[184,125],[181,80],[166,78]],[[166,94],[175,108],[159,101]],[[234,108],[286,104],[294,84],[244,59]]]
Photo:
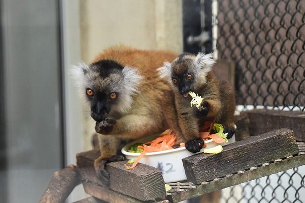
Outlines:
[[137,69],[113,60],[100,60],[89,66],[81,63],[72,67],[71,74],[97,122],[113,112],[126,113],[142,78]]

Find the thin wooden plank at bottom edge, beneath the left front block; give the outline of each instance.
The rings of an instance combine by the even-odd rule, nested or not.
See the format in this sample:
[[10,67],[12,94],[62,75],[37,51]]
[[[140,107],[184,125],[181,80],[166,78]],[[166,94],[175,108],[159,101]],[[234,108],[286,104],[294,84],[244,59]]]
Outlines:
[[[99,200],[109,203],[143,203],[143,201],[134,199],[122,193],[115,192],[109,188],[94,184],[90,181],[83,181],[84,190],[86,193],[98,198]],[[168,203],[167,200],[160,201],[145,201],[145,203]]]

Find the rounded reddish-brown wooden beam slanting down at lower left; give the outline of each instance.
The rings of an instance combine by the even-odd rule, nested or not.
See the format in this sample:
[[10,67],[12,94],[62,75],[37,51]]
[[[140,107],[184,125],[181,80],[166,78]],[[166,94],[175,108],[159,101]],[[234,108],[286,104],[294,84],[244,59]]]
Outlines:
[[68,165],[53,174],[39,203],[63,203],[78,184],[80,184],[80,178],[76,166]]

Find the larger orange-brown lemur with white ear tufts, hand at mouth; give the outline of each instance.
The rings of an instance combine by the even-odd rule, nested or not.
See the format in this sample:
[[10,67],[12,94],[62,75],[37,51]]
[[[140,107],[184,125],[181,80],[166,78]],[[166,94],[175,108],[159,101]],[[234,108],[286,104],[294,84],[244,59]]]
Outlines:
[[90,65],[72,69],[79,91],[91,107],[96,121],[101,156],[94,162],[97,176],[108,183],[108,161],[116,155],[121,139],[136,139],[167,128],[161,108],[167,81],[156,69],[177,54],[168,51],[142,51],[117,46],[109,48]]

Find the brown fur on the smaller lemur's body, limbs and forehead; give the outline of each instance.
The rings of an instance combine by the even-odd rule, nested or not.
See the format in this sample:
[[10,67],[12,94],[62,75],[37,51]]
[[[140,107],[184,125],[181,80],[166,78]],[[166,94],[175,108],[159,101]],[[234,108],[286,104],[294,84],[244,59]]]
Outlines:
[[[179,60],[178,60],[179,61]],[[175,73],[183,74],[189,66],[189,62],[177,59],[172,63]],[[185,63],[185,64],[184,64]],[[199,138],[200,126],[205,121],[212,121],[216,118],[216,123],[234,129],[235,95],[232,85],[227,81],[219,81],[216,76],[209,71],[204,79],[204,83],[197,83],[193,92],[208,102],[209,110],[205,117],[195,116],[194,110],[190,106],[191,97],[183,97],[173,86],[172,91],[167,92],[164,100],[164,111],[168,125],[178,136],[178,144]]]

